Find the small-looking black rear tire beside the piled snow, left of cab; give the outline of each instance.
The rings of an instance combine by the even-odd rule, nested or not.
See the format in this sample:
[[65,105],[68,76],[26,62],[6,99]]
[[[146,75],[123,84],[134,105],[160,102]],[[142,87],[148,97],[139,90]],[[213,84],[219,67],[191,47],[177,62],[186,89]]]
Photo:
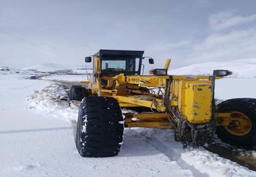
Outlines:
[[88,97],[86,87],[82,87],[82,85],[73,85],[70,88],[69,100],[81,101],[85,97]]

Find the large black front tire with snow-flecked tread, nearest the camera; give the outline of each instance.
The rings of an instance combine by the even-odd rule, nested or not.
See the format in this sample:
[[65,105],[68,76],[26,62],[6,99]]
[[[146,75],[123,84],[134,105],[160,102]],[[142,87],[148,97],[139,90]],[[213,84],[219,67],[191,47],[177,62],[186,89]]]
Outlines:
[[123,114],[110,97],[88,97],[79,106],[75,144],[82,157],[110,157],[123,143]]

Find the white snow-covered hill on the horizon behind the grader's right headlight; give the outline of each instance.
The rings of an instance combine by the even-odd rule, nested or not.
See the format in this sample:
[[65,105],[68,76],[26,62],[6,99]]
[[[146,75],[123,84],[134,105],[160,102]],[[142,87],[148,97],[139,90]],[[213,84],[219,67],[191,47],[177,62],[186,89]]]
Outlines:
[[168,71],[170,75],[212,75],[215,69],[226,69],[233,74],[228,77],[256,78],[256,59],[209,62],[189,65]]

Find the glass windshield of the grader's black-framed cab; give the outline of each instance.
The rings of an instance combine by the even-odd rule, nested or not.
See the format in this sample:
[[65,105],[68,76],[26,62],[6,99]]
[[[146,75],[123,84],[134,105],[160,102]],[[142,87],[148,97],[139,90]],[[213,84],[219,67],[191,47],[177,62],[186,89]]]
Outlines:
[[102,71],[137,72],[140,57],[136,55],[102,55]]

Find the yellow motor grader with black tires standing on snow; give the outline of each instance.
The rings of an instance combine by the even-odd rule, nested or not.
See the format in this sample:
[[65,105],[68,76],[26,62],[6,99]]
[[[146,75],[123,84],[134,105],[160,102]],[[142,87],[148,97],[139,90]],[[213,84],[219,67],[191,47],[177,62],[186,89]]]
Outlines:
[[75,135],[80,155],[117,155],[124,127],[173,129],[175,140],[184,147],[211,143],[215,133],[233,145],[256,145],[256,100],[215,103],[215,80],[231,71],[168,75],[170,59],[166,59],[163,68],[143,75],[146,59],[154,64],[138,50],[99,50],[86,57],[86,63],[93,63],[93,73],[89,81],[70,90],[70,100],[82,100]]

